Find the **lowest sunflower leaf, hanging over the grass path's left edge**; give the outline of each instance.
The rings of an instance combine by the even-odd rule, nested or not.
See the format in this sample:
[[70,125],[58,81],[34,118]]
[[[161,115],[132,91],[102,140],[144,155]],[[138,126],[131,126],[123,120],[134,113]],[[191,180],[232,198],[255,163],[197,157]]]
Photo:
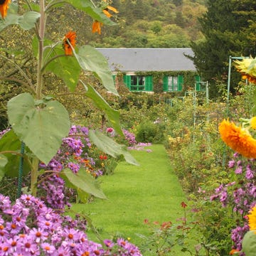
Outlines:
[[97,198],[106,199],[99,183],[85,169],[80,169],[78,174],[74,174],[70,169],[64,169],[60,172],[60,177],[64,179],[66,186],[78,191],[80,200],[84,199],[85,201],[87,193]]

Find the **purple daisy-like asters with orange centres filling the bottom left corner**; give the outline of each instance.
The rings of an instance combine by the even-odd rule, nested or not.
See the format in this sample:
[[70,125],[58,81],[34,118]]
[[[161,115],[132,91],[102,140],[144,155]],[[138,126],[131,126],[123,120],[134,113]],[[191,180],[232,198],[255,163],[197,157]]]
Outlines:
[[22,195],[12,205],[0,194],[0,256],[141,255],[122,238],[92,242],[85,229],[84,221],[55,213],[38,198]]

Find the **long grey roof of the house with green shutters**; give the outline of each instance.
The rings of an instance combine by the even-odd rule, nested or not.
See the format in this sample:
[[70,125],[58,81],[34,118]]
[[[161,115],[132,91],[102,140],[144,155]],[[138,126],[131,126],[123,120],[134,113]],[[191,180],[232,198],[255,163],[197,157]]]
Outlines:
[[191,48],[97,48],[107,58],[111,70],[170,71],[196,70],[187,55]]

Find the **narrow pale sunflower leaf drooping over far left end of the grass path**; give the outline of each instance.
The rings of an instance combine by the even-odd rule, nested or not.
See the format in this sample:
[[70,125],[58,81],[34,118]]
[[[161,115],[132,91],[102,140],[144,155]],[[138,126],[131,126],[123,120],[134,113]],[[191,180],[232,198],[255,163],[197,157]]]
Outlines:
[[107,137],[105,134],[102,134],[97,130],[90,130],[89,137],[92,140],[92,142],[106,154],[109,154],[114,158],[123,155],[127,163],[134,164],[137,166],[139,165],[138,162],[134,159],[134,157],[131,154],[129,154],[129,152],[126,149],[127,147],[125,145],[117,144],[117,142],[114,142],[113,139]]

